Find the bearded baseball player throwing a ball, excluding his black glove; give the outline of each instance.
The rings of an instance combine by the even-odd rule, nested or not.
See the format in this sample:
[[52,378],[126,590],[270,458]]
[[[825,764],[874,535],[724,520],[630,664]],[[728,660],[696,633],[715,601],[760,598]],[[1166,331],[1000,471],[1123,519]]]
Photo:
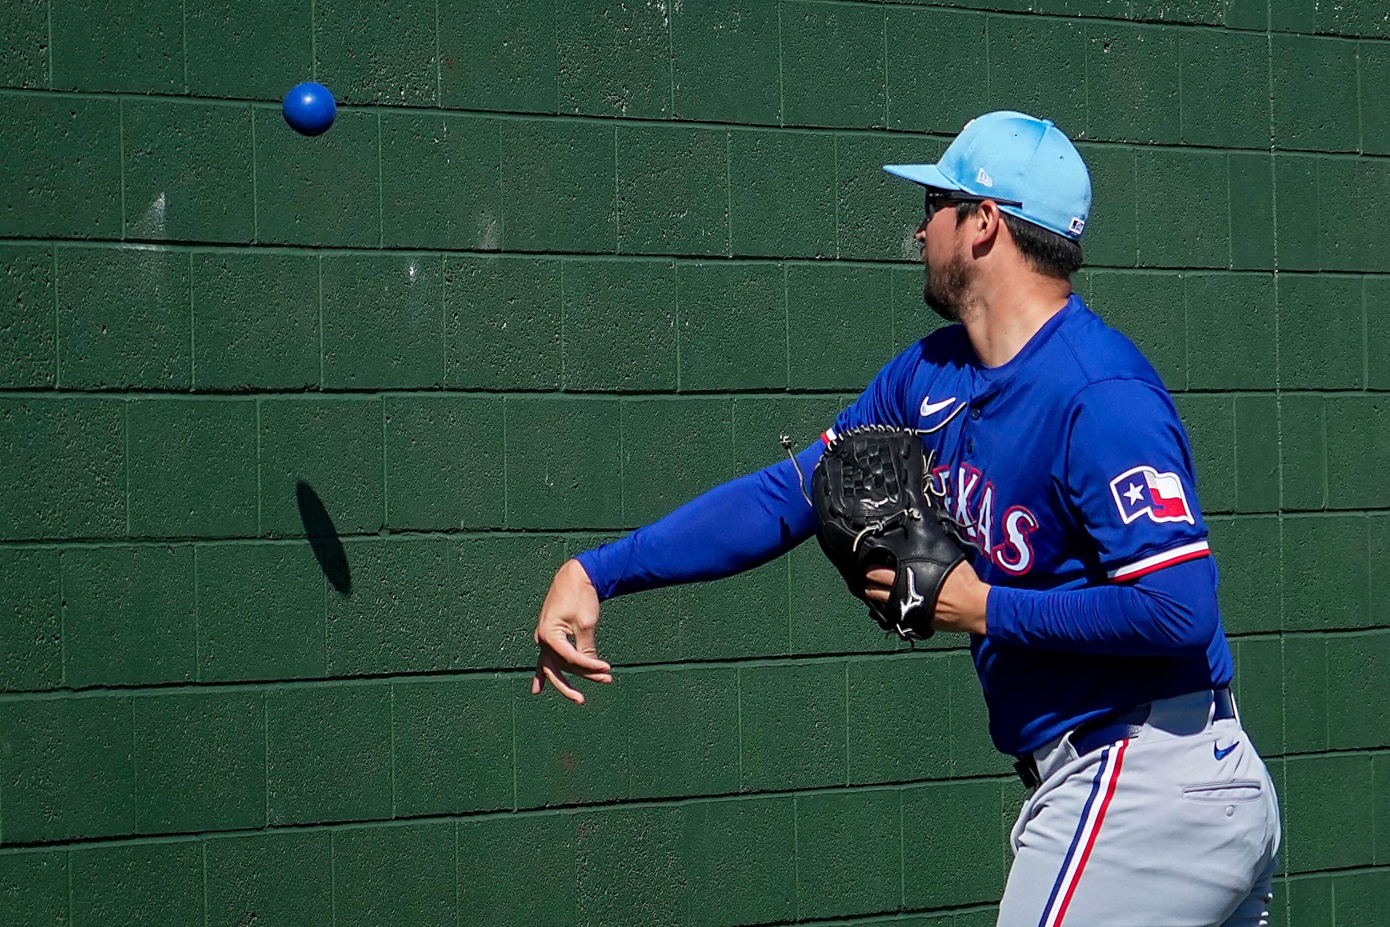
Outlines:
[[[888,361],[792,460],[566,563],[532,692],[549,680],[582,703],[564,673],[612,681],[603,599],[731,575],[815,534],[809,474],[840,435],[919,429],[973,545],[926,591],[930,628],[970,634],[994,744],[1034,789],[1001,927],[1264,924],[1277,802],[1227,688],[1187,435],[1138,349],[1072,292],[1081,156],[1051,121],[1001,111],[938,164],[885,170],[924,188],[924,299],[956,324]],[[901,586],[876,566],[856,592],[891,606]]]

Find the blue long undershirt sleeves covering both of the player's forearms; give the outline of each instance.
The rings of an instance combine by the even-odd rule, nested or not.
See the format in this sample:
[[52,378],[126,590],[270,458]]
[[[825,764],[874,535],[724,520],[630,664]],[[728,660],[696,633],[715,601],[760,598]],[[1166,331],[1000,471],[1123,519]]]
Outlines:
[[[796,454],[808,481],[823,449],[816,441]],[[751,570],[815,534],[815,514],[798,482],[791,460],[778,461],[577,559],[600,600]],[[1074,653],[1201,653],[1219,627],[1212,571],[1211,557],[1202,557],[1116,585],[1056,591],[995,585],[988,637]]]

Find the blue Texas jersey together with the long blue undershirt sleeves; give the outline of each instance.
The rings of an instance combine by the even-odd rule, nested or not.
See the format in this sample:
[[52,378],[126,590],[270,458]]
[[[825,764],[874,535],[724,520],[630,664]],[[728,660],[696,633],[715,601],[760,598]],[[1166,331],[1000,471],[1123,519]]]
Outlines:
[[[1079,297],[1002,367],[980,364],[959,325],[919,341],[826,436],[863,424],[931,429],[933,478],[992,586],[986,635],[970,646],[1001,750],[1230,681],[1177,410],[1143,354]],[[823,449],[796,454],[801,474]],[[815,534],[805,491],[783,460],[577,559],[599,599],[733,575]]]

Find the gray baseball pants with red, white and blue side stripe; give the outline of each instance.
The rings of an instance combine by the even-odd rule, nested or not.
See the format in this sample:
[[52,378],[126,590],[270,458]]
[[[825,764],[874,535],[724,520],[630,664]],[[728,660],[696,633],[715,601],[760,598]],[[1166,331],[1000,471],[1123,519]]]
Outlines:
[[1212,694],[1193,692],[1154,702],[1129,739],[1036,750],[999,927],[1268,923],[1275,787],[1238,714],[1211,719]]

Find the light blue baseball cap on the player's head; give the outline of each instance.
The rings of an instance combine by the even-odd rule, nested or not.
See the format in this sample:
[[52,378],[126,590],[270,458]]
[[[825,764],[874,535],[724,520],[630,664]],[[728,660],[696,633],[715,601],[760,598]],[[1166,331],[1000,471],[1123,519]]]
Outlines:
[[935,164],[884,164],[926,186],[1016,200],[999,208],[1070,239],[1091,213],[1091,174],[1072,139],[1027,113],[999,110],[970,120]]

